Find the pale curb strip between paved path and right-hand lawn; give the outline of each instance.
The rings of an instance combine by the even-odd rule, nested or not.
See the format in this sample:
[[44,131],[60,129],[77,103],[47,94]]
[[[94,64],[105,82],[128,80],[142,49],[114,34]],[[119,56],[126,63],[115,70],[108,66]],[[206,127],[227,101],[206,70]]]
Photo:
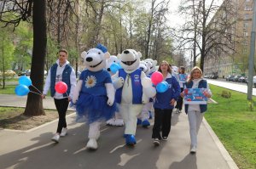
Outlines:
[[207,131],[210,133],[214,143],[217,145],[221,155],[224,157],[224,160],[227,162],[227,164],[230,166],[230,169],[239,169],[236,165],[236,162],[232,159],[229,152],[224,148],[224,145],[220,142],[215,132],[213,132],[212,127],[208,124],[207,120],[203,118],[202,121],[207,128]]

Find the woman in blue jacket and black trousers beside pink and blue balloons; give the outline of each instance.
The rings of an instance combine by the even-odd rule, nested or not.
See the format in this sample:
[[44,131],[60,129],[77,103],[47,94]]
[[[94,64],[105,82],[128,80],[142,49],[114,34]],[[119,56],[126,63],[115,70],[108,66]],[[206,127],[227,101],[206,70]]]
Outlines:
[[[158,69],[163,76],[164,81],[169,85],[164,93],[156,93],[154,101],[154,127],[152,138],[154,144],[159,145],[160,139],[167,140],[171,130],[172,109],[180,95],[180,87],[174,76],[170,65],[165,60],[161,62]],[[161,134],[160,134],[161,132]]]

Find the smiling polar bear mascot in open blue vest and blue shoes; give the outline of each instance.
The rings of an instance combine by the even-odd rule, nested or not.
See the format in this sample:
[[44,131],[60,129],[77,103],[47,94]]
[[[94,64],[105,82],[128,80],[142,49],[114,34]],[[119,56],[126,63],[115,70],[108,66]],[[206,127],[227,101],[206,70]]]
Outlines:
[[155,95],[154,87],[143,87],[146,77],[143,70],[138,69],[142,54],[134,49],[125,49],[119,55],[122,69],[113,76],[113,86],[117,89],[115,100],[119,104],[119,112],[125,121],[125,144],[137,144],[135,134],[137,115],[143,110],[143,104]]

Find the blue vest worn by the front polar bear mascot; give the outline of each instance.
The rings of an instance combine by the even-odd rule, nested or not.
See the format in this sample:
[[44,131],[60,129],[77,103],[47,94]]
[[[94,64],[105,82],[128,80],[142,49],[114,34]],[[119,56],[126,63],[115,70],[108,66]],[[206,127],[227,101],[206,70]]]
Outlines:
[[[131,74],[131,89],[132,89],[132,104],[142,104],[143,98],[143,86],[141,82],[141,73],[142,70],[135,70]],[[127,73],[124,69],[119,69],[119,77],[123,77],[124,80],[127,76]],[[121,95],[122,95],[123,87],[120,87],[115,92],[115,99],[117,103],[121,103]]]

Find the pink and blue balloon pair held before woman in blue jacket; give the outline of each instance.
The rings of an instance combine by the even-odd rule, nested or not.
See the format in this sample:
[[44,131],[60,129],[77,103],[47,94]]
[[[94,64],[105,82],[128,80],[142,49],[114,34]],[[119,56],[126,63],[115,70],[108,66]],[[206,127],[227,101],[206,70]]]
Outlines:
[[169,87],[169,84],[164,80],[164,76],[159,72],[155,71],[151,76],[151,81],[156,87],[158,93],[165,93]]

